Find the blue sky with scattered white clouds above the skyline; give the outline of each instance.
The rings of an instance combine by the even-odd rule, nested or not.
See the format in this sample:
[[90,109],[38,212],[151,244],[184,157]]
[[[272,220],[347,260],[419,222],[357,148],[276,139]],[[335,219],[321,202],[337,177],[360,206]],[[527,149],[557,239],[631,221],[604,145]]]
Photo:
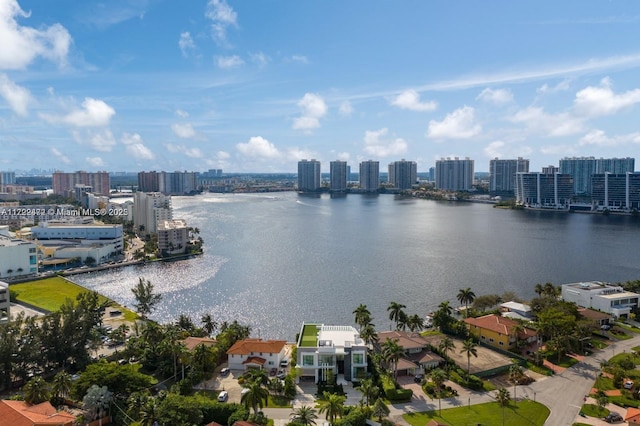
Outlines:
[[0,169],[636,157],[640,2],[0,0]]

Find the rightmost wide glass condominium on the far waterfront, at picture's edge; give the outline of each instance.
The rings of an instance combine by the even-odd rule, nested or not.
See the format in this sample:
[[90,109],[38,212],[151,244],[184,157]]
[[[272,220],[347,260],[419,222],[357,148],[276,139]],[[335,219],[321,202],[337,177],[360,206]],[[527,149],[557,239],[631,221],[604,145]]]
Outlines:
[[597,209],[640,209],[640,173],[595,174],[591,182],[591,200]]

